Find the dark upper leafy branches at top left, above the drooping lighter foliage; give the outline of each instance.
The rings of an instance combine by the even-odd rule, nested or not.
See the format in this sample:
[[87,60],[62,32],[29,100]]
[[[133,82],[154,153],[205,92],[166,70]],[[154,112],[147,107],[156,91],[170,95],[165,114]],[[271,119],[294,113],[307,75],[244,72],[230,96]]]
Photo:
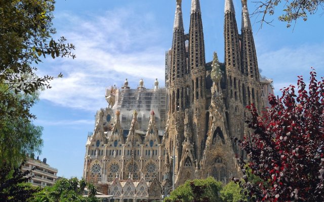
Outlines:
[[[46,56],[72,57],[73,44],[51,35],[54,0],[0,0],[0,126],[3,117],[34,118],[24,96],[50,88],[53,76],[37,77],[34,65]],[[62,77],[59,74],[57,77]],[[18,95],[18,96],[17,96]]]

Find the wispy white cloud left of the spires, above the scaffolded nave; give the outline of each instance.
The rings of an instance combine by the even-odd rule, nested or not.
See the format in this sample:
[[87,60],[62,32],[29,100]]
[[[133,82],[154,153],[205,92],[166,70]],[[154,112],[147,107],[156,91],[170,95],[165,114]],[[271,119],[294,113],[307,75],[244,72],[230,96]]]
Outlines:
[[76,59],[49,62],[51,68],[41,73],[63,72],[64,78],[54,80],[52,89],[42,92],[42,99],[96,111],[106,106],[105,86],[121,86],[125,78],[132,87],[140,78],[149,87],[155,78],[164,83],[165,48],[158,43],[159,30],[151,14],[115,9],[84,18],[64,13],[58,21],[66,25],[58,35],[76,46]]

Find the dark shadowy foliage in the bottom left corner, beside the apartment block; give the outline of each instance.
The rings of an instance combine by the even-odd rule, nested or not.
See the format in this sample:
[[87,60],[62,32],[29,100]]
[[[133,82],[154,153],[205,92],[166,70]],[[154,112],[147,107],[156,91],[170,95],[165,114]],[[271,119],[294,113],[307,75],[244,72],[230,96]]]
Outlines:
[[[23,164],[22,164],[23,165]],[[0,170],[0,201],[25,202],[38,189],[26,183],[30,171],[21,172],[18,168],[12,169],[5,164]]]

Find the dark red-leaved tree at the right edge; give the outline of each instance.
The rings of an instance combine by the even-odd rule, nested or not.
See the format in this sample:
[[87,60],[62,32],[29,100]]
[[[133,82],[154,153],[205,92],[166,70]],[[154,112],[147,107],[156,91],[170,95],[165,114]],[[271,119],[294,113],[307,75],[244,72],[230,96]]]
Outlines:
[[[298,93],[291,85],[269,96],[263,117],[248,107],[254,133],[240,142],[248,164],[241,161],[239,183],[252,201],[324,201],[324,79],[312,70],[307,90],[298,78]],[[261,180],[252,182],[251,173]]]

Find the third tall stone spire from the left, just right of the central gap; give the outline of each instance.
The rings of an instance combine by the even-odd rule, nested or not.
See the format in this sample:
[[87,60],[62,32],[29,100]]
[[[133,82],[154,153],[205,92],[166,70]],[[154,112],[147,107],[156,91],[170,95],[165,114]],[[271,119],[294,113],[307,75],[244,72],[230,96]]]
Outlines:
[[[225,0],[224,39],[227,124],[229,134],[241,139],[244,135],[244,120],[236,114],[244,111],[241,89],[245,88],[245,79],[242,75],[240,41],[232,0]],[[238,150],[235,150],[235,153],[237,152]]]

